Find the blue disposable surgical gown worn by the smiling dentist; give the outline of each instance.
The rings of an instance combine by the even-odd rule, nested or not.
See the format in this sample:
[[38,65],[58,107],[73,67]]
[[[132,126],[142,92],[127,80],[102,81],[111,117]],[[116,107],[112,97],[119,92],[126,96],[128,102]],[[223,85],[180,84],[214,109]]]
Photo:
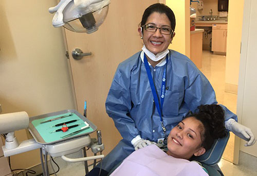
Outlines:
[[[161,94],[161,79],[165,67],[166,65],[162,65],[153,68],[150,65],[158,97]],[[134,151],[131,140],[136,136],[157,142],[157,139],[167,137],[170,130],[190,111],[195,112],[199,105],[217,103],[208,79],[188,57],[173,50],[169,52],[162,108],[166,134],[163,134],[160,116],[153,100],[148,75],[138,52],[119,64],[106,99],[106,112],[114,120],[123,139],[103,159],[104,170],[111,170]],[[237,120],[236,115],[225,106],[223,108],[225,120]]]

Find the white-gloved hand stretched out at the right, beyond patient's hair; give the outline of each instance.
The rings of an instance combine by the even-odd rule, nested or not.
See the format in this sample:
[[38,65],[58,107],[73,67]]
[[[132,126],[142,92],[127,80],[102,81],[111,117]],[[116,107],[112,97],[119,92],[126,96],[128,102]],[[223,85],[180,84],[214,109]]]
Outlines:
[[252,130],[240,123],[237,123],[234,119],[229,119],[225,122],[225,127],[232,131],[236,136],[248,141],[245,146],[251,146],[256,142],[256,139],[252,133]]

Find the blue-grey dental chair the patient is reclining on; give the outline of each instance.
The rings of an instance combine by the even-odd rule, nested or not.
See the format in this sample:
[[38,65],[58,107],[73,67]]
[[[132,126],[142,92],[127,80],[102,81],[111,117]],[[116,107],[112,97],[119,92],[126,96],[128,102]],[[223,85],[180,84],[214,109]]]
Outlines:
[[[198,161],[201,165],[206,168],[210,176],[224,176],[221,169],[218,167],[218,162],[221,160],[225,147],[229,139],[229,131],[227,130],[226,137],[217,139],[213,143],[211,149],[206,151],[204,155],[199,157],[193,157],[192,160]],[[109,173],[110,175],[122,162],[117,164]]]

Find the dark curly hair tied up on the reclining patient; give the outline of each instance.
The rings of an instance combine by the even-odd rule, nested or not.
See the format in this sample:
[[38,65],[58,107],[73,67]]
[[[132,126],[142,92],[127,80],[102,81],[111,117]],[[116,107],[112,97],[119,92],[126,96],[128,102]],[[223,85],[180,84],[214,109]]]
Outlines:
[[221,106],[216,104],[207,104],[198,106],[198,112],[188,117],[195,117],[203,123],[201,132],[201,147],[206,150],[210,149],[215,139],[224,138],[226,136],[226,128],[224,126],[224,111]]

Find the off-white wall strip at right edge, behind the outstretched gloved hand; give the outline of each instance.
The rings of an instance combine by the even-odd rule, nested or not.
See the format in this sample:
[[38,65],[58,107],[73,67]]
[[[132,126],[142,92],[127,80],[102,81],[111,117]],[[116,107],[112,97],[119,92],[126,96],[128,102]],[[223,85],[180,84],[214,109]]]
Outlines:
[[[240,61],[240,75],[237,94],[237,115],[238,121],[252,129],[257,138],[257,1],[247,0],[244,4],[244,17],[242,29],[242,49]],[[241,140],[240,150],[257,157],[257,144],[251,147],[244,146],[245,141]]]

